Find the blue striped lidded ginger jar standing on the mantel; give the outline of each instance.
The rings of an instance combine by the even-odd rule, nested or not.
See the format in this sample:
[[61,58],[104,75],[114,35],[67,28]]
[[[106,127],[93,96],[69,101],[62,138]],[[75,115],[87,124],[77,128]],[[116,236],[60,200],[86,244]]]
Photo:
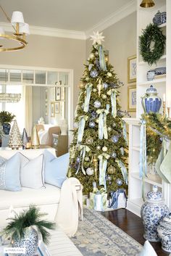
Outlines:
[[150,88],[146,90],[146,94],[142,97],[141,103],[144,112],[157,113],[162,105],[162,99],[157,96],[157,89],[151,85]]

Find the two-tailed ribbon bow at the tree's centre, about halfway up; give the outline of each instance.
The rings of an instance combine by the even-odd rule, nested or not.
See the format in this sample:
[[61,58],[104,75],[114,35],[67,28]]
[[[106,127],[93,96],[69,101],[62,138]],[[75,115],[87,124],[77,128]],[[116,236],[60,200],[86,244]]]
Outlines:
[[108,139],[107,115],[109,111],[102,109],[96,110],[96,113],[99,115],[99,139]]

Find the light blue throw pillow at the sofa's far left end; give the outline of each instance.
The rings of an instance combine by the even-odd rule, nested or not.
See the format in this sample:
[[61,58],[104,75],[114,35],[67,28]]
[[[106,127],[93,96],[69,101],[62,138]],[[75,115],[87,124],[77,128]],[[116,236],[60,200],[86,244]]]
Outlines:
[[20,191],[20,155],[14,154],[8,160],[0,157],[0,189]]

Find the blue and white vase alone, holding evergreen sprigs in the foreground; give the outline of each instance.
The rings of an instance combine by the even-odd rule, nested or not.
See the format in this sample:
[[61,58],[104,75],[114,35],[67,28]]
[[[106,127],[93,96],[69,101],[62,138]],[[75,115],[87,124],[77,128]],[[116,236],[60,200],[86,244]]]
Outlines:
[[[23,238],[18,237],[13,239],[12,247],[25,247],[24,256],[36,255],[38,249],[38,232],[32,226],[25,228]],[[19,254],[17,256],[23,256]]]

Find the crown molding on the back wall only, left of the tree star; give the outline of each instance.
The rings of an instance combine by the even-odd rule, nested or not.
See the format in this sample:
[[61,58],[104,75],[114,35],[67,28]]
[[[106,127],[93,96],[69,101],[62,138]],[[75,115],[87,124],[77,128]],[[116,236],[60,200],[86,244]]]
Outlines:
[[[14,32],[12,25],[7,22],[0,22],[0,26],[7,32]],[[31,35],[54,36],[59,38],[72,38],[86,40],[86,34],[83,31],[64,30],[59,28],[46,28],[30,26]]]

